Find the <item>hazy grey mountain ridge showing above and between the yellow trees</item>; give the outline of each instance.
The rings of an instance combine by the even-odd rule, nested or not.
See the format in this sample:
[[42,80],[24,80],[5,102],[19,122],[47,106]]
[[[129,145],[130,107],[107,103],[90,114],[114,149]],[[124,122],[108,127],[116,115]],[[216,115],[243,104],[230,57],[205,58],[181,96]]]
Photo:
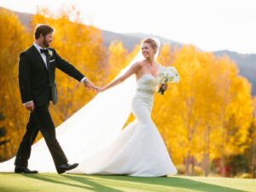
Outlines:
[[[0,11],[1,8],[0,7]],[[9,10],[12,11],[12,10]],[[20,21],[23,23],[24,26],[29,27],[30,20],[32,19],[32,15],[26,13],[15,12],[18,15]],[[128,50],[132,50],[136,44],[139,44],[143,38],[146,37],[155,37],[159,38],[161,44],[171,44],[172,47],[181,47],[183,44],[180,44],[176,41],[172,41],[170,39],[161,38],[158,36],[154,36],[151,34],[143,34],[143,33],[116,33],[116,32],[109,32],[106,30],[102,30],[102,38],[104,46],[108,47],[108,45],[113,40],[120,40],[123,42],[124,46]],[[239,67],[241,76],[244,76],[248,79],[253,85],[252,94],[253,96],[256,95],[256,54],[240,54],[230,50],[218,50],[212,52],[214,55],[222,56],[228,55],[231,60],[235,61],[237,67]]]

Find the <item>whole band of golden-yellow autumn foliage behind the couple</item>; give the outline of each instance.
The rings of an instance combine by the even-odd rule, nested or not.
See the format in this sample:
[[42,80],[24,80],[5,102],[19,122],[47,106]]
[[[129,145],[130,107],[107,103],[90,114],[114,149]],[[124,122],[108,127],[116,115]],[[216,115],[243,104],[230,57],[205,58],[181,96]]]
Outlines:
[[[137,45],[129,53],[120,41],[105,49],[102,32],[80,24],[79,18],[74,8],[56,15],[39,9],[28,36],[16,15],[0,12],[0,22],[5,26],[0,31],[0,114],[4,117],[0,127],[8,130],[3,139],[11,139],[0,148],[3,158],[15,154],[25,131],[28,112],[20,103],[17,63],[20,51],[32,44],[32,31],[38,23],[55,28],[53,48],[99,86],[111,81],[140,51]],[[187,174],[193,171],[192,164],[201,165],[207,172],[213,159],[220,158],[224,163],[225,157],[243,153],[255,140],[255,129],[251,135],[248,132],[256,125],[256,99],[251,98],[251,84],[239,75],[236,63],[192,45],[172,49],[169,44],[162,46],[158,62],[177,67],[180,75],[180,82],[169,84],[164,96],[155,94],[152,113],[174,164],[184,164],[182,170]],[[59,70],[56,83],[59,102],[50,110],[55,125],[59,125],[95,95]],[[133,119],[131,115],[126,124]]]

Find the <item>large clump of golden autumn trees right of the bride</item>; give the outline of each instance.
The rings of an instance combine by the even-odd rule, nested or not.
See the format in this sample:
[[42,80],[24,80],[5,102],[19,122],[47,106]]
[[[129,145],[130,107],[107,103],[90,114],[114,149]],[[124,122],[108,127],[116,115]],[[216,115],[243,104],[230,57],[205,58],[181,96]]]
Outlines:
[[174,163],[183,163],[184,172],[192,175],[195,166],[201,166],[207,175],[211,160],[222,156],[220,146],[225,155],[243,150],[252,113],[250,84],[232,61],[193,46],[161,52],[160,61],[168,58],[174,58],[171,65],[181,81],[170,84],[165,96],[157,96],[153,118]]

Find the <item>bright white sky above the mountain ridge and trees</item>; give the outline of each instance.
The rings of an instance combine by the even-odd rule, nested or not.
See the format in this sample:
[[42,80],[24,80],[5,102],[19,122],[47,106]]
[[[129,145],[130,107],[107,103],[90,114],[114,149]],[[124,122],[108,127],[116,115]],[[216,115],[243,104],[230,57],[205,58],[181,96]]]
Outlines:
[[0,7],[34,14],[75,6],[84,24],[140,32],[214,51],[256,54],[255,0],[0,0]]

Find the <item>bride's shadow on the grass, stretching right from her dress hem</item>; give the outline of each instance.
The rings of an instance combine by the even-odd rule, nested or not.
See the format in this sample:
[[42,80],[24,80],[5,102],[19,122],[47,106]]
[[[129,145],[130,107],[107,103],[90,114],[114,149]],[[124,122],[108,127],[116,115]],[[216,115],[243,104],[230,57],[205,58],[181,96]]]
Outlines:
[[194,189],[202,192],[246,192],[245,190],[232,189],[216,184],[203,183],[183,177],[129,177],[129,176],[102,176],[94,175],[105,179],[113,179],[132,183],[146,183],[174,187],[180,189]]

